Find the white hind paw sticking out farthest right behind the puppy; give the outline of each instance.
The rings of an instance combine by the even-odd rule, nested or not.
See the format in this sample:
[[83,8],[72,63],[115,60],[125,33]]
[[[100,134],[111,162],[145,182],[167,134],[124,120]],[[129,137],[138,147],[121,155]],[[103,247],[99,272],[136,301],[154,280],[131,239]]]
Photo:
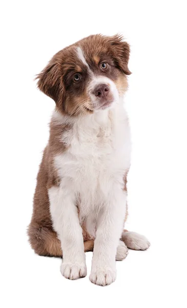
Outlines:
[[136,232],[124,231],[121,240],[127,245],[128,248],[134,250],[146,250],[150,246],[148,239]]

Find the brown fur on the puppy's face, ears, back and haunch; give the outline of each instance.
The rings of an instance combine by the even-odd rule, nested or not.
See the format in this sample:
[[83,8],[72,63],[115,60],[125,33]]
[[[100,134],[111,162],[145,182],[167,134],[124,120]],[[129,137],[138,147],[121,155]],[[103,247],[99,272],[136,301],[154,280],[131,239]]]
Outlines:
[[[91,35],[57,52],[46,68],[38,74],[38,88],[55,101],[58,111],[72,116],[80,112],[92,112],[92,106],[84,103],[88,100],[86,86],[89,76],[85,65],[76,56],[77,46],[84,50],[86,61],[94,73],[109,76],[119,91],[126,90],[127,79],[124,74],[131,73],[128,69],[130,47],[128,43],[122,41],[119,35],[112,37],[100,34]],[[102,72],[99,66],[103,61],[110,64],[105,72]],[[77,71],[81,72],[82,78],[85,78],[84,82],[72,82],[73,75]],[[60,241],[52,225],[48,189],[59,185],[60,179],[57,176],[53,159],[55,155],[65,151],[69,146],[59,140],[70,129],[70,125],[62,126],[55,121],[50,123],[49,143],[44,150],[37,175],[33,215],[28,227],[28,235],[35,253],[41,256],[62,256]],[[127,174],[124,176],[124,189],[127,189]],[[84,224],[82,233],[85,240],[85,251],[92,251],[94,240],[86,232]]]

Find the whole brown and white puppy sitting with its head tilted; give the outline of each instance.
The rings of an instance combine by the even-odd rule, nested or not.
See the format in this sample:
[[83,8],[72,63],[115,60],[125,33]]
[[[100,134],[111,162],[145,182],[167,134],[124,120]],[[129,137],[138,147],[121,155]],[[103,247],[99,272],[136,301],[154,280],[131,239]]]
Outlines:
[[116,279],[116,260],[146,237],[123,230],[128,216],[131,138],[123,106],[130,46],[120,35],[90,35],[57,52],[36,79],[56,107],[34,194],[29,241],[40,256],[63,257],[69,279]]

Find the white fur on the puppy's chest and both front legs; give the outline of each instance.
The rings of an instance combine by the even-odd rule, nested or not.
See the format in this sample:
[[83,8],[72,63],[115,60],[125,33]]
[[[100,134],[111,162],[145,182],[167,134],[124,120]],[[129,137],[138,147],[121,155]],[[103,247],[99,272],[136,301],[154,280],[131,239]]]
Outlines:
[[[61,137],[68,149],[54,158],[60,186],[49,189],[53,227],[63,249],[61,273],[71,279],[86,275],[80,227],[84,222],[95,239],[90,280],[101,285],[116,277],[115,257],[126,213],[123,176],[131,152],[127,114],[111,83],[115,100],[110,109],[76,119],[61,116],[61,123],[71,123],[73,128]],[[53,121],[59,124],[57,111]]]

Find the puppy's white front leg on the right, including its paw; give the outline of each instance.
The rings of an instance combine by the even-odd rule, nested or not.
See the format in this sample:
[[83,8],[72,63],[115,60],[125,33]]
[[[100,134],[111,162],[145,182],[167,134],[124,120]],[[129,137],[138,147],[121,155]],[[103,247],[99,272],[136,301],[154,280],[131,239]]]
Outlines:
[[113,187],[99,213],[90,275],[95,284],[110,284],[116,278],[115,257],[126,213],[126,199],[126,191],[120,185]]

